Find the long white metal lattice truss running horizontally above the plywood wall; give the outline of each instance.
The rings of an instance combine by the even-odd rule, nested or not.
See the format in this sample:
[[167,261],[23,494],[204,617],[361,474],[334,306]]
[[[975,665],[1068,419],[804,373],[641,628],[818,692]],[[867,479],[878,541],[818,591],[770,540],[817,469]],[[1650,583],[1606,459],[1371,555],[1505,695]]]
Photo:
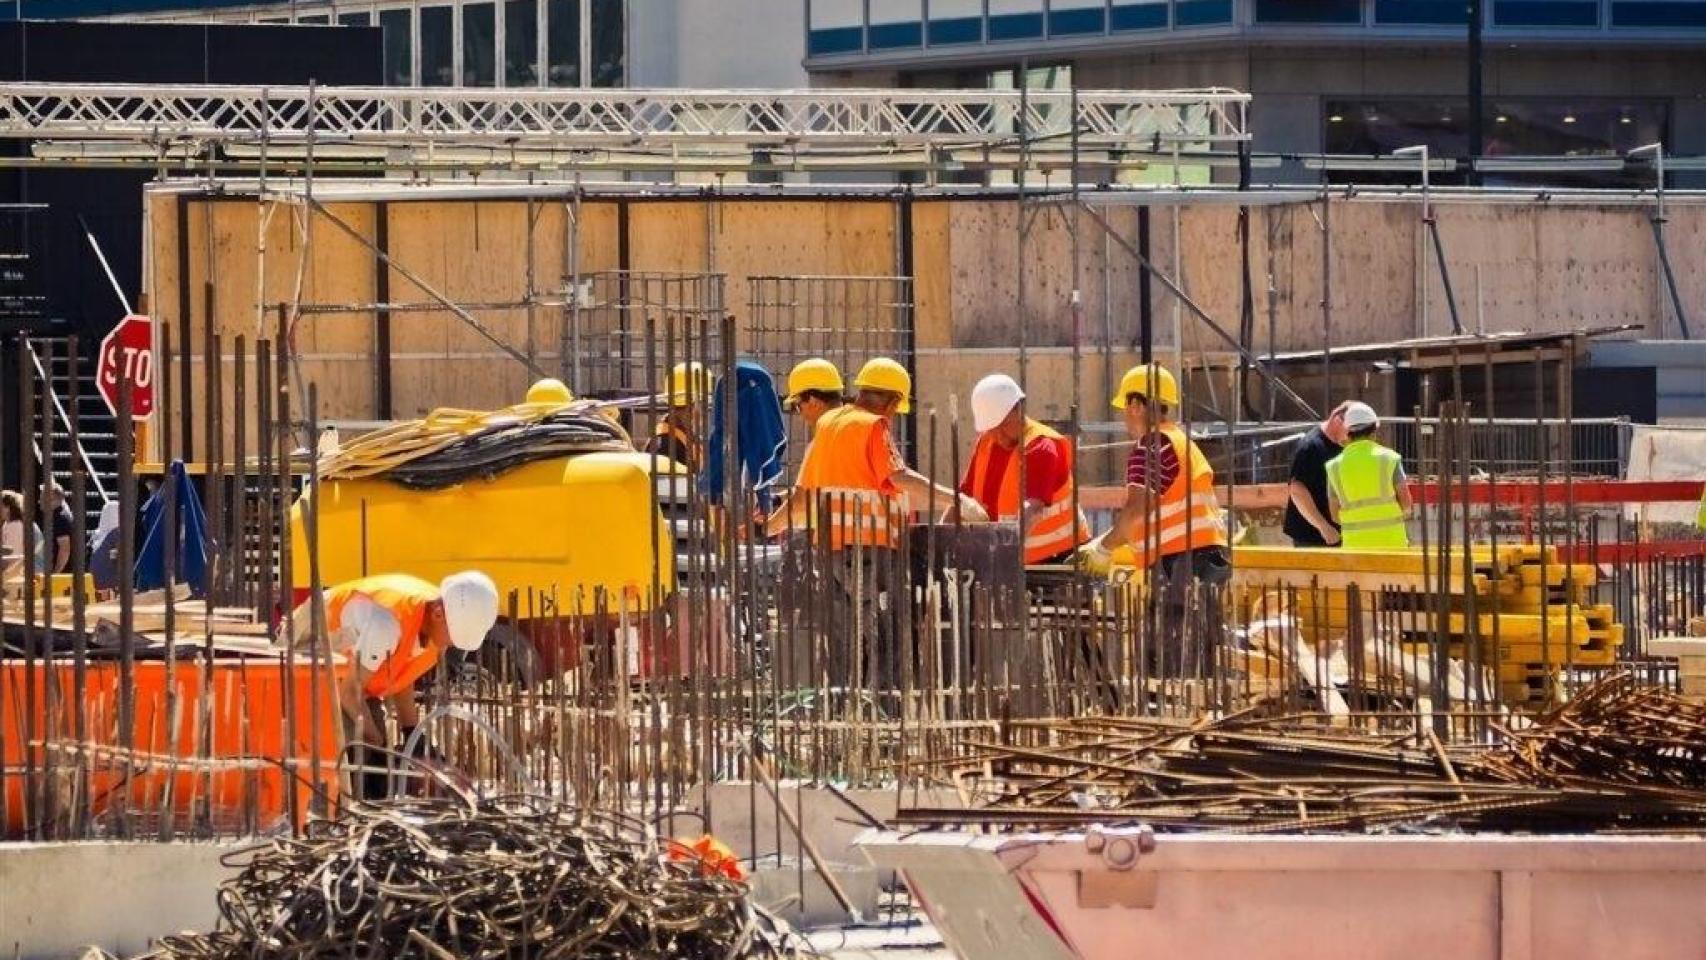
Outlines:
[[[1235,90],[512,90],[3,84],[0,136],[510,148],[1213,148],[1249,138]],[[1076,118],[1076,121],[1073,121]]]

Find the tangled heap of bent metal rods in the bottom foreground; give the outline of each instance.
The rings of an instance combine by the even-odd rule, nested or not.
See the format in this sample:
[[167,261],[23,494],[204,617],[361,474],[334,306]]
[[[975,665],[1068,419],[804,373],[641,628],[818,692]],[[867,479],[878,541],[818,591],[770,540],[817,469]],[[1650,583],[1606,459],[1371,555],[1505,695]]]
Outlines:
[[218,929],[148,960],[781,957],[742,882],[645,824],[529,796],[357,805],[247,854]]

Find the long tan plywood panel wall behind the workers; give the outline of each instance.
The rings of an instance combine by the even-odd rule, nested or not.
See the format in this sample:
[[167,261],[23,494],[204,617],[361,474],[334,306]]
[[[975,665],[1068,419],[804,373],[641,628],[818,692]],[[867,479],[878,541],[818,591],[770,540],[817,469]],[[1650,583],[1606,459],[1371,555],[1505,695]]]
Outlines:
[[[560,298],[572,261],[582,273],[722,273],[725,307],[735,317],[746,312],[749,276],[911,273],[920,396],[942,409],[949,396],[964,397],[978,377],[1017,372],[1024,336],[1036,413],[1065,419],[1076,402],[1085,419],[1105,419],[1111,380],[1136,358],[1140,271],[1088,213],[1065,205],[1034,206],[1022,244],[1012,200],[599,198],[578,206],[578,223],[560,200],[363,201],[333,203],[329,210],[368,239],[379,237],[384,220],[394,264],[459,304],[520,300],[529,283]],[[1699,317],[1706,304],[1706,205],[1677,203],[1668,213],[1680,293]],[[1639,324],[1646,336],[1675,334],[1674,321],[1660,321],[1668,314],[1650,208],[1445,203],[1436,205],[1436,215],[1467,329]],[[384,268],[372,251],[319,217],[312,218],[312,257],[302,264],[299,217],[300,206],[258,205],[252,198],[171,191],[150,196],[148,302],[155,317],[174,327],[188,317],[198,425],[208,292],[225,353],[239,334],[251,343],[273,336],[275,314],[258,304],[290,300],[299,280],[304,304],[372,304],[382,283],[391,302],[430,300],[401,269],[380,275]],[[1134,208],[1107,208],[1102,217],[1124,242],[1138,244]],[[1257,351],[1450,329],[1414,203],[1257,206],[1249,213],[1247,256],[1233,205],[1153,206],[1148,220],[1152,261],[1233,333],[1249,271],[1250,343]],[[1322,269],[1329,247],[1331,326]],[[1082,292],[1076,310],[1075,288]],[[1174,329],[1186,355],[1225,358],[1227,344],[1160,283],[1152,285],[1150,305],[1163,360],[1172,356]],[[561,307],[473,314],[543,368],[558,368]],[[368,310],[310,314],[297,327],[297,373],[317,384],[322,418],[380,416],[377,326]],[[502,406],[525,390],[524,367],[450,312],[396,312],[389,338],[392,418],[420,416],[437,406]],[[1075,338],[1082,351],[1076,370]],[[172,339],[176,346],[176,333]],[[227,384],[229,373],[227,360]],[[246,411],[251,418],[252,408]],[[1221,408],[1230,409],[1225,402]],[[205,443],[205,425],[196,430],[198,445]]]

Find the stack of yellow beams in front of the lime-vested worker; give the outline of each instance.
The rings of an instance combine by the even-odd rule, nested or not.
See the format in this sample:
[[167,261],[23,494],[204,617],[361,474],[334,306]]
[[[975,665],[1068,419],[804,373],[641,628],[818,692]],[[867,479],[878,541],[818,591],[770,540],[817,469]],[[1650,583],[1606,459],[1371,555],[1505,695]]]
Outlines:
[[1595,602],[1599,571],[1561,563],[1554,547],[1472,546],[1443,551],[1239,547],[1235,587],[1245,610],[1285,609],[1303,638],[1344,636],[1353,622],[1406,656],[1435,643],[1467,668],[1496,674],[1506,706],[1556,699],[1566,668],[1609,668],[1624,626]]

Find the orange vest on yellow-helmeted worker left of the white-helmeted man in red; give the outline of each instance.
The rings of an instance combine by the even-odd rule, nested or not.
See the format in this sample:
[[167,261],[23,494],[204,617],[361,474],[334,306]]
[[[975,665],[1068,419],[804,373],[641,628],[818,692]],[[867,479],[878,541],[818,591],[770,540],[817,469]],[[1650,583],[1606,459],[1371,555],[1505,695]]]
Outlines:
[[817,419],[800,464],[798,486],[812,498],[812,527],[827,530],[829,549],[892,547],[906,527],[899,493],[870,459],[882,418],[841,406]]

